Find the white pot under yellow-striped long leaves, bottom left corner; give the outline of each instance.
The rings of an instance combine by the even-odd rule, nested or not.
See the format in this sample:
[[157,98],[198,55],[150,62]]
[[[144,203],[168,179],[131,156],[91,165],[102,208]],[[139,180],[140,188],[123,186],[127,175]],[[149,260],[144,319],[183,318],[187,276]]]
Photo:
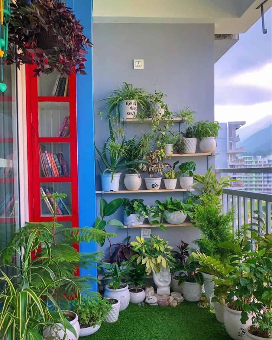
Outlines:
[[49,328],[45,328],[43,331],[43,336],[46,337],[48,335],[52,336],[58,336],[60,339],[63,339],[64,334],[66,334],[65,339],[69,340],[78,340],[79,338],[79,332],[80,332],[80,325],[79,325],[79,318],[75,312],[72,312],[70,310],[64,310],[63,314],[66,314],[67,316],[73,317],[74,319],[72,321],[69,321],[69,323],[74,327],[77,336],[75,336],[70,330],[66,329],[66,332],[64,333],[64,326],[60,323],[57,323],[57,328],[54,328],[50,326]]

